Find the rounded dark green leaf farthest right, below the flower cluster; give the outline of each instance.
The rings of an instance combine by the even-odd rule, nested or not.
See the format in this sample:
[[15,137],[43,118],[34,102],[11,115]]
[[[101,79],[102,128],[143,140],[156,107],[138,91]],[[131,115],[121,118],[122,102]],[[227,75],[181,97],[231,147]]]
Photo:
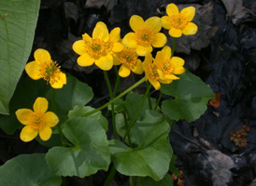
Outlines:
[[179,80],[162,85],[161,91],[175,100],[164,100],[162,110],[170,119],[192,122],[206,112],[208,100],[214,98],[211,88],[199,77],[186,71]]

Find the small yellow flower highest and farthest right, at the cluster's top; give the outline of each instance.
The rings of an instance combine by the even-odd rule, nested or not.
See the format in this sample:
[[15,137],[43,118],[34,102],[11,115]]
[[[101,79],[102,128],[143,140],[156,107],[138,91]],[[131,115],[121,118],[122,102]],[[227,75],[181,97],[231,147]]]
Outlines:
[[185,7],[179,13],[175,4],[169,4],[166,13],[168,16],[163,16],[161,20],[164,29],[169,30],[172,37],[180,37],[182,33],[192,35],[197,32],[196,24],[191,22],[195,14],[194,7]]

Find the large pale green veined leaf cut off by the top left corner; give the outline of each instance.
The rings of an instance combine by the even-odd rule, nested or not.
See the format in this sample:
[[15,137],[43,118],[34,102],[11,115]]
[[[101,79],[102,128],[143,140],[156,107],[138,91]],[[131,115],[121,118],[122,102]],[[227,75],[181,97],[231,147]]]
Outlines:
[[31,53],[39,6],[39,0],[0,1],[0,113],[9,113],[9,100]]

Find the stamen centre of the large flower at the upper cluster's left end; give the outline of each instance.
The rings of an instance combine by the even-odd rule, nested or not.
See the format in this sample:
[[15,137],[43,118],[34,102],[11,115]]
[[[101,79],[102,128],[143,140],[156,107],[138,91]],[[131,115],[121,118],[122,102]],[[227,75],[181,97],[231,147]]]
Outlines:
[[92,39],[92,42],[87,44],[87,52],[94,59],[104,56],[106,54],[106,50],[107,47],[105,46],[105,43],[98,38]]

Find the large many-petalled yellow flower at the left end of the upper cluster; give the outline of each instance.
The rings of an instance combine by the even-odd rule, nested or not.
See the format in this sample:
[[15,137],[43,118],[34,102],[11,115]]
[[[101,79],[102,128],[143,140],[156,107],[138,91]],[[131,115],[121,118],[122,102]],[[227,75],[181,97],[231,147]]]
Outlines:
[[80,55],[78,65],[91,66],[93,63],[100,69],[108,71],[113,66],[113,52],[121,52],[123,45],[120,43],[120,28],[108,33],[104,22],[98,22],[92,31],[92,37],[84,33],[82,40],[73,44],[73,50]]

